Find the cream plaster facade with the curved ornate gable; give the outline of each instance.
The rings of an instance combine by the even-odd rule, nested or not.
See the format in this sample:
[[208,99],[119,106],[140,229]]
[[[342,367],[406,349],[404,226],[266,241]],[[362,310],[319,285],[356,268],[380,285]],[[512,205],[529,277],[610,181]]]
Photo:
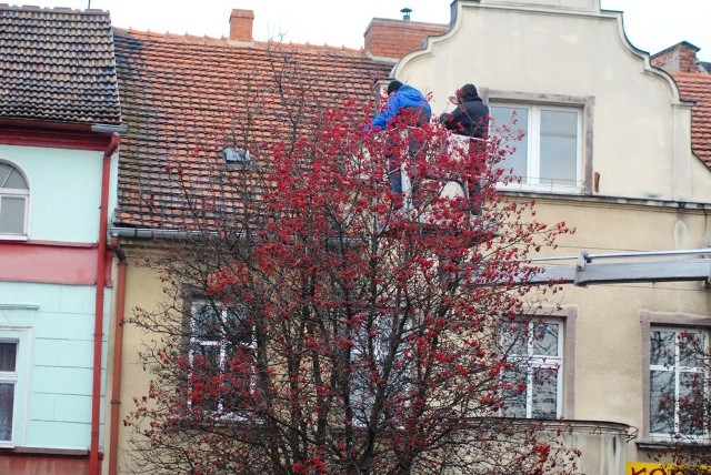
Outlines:
[[[601,11],[598,0],[454,1],[450,31],[403,58],[392,75],[431,92],[434,113],[468,82],[490,103],[583,111],[580,190],[518,192],[537,199],[542,222],[577,230],[559,241],[557,255],[709,245],[711,172],[691,151],[691,104],[630,44],[620,13]],[[567,285],[548,303],[567,309],[574,326],[564,342],[574,368],[563,383],[563,417],[627,424],[637,435],[598,439],[588,453],[580,447],[583,472],[623,474],[625,463],[649,461],[638,444],[650,439],[645,332],[654,323],[711,322],[708,285]]]

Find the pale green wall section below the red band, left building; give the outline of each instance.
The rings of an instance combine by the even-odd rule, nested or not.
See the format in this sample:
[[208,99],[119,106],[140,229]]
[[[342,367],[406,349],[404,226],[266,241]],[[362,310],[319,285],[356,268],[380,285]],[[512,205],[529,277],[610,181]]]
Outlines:
[[[24,413],[20,422],[24,438],[17,445],[89,448],[94,297],[93,286],[0,282],[0,336],[9,327],[28,329],[30,335],[29,348],[24,348],[29,355],[21,353],[29,356],[30,366],[29,374],[20,375],[26,394],[18,395],[19,413]],[[106,302],[104,329],[111,302],[109,289]]]

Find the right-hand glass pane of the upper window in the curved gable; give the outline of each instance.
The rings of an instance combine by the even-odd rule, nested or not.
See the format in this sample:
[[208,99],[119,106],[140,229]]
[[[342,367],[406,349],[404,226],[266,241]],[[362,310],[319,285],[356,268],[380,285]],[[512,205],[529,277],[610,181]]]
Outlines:
[[540,182],[577,185],[578,113],[541,110]]

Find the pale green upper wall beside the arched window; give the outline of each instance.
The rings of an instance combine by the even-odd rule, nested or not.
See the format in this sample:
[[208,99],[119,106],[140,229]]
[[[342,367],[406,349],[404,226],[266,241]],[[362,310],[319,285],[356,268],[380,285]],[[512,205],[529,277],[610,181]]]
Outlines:
[[28,178],[30,240],[97,242],[101,152],[0,145],[0,160],[17,164]]

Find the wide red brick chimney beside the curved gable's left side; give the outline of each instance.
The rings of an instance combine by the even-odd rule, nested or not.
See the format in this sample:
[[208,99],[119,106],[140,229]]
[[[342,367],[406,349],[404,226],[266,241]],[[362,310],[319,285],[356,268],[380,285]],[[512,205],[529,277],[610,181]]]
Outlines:
[[375,58],[400,59],[422,49],[427,37],[445,33],[448,26],[373,18],[365,30],[365,52]]

